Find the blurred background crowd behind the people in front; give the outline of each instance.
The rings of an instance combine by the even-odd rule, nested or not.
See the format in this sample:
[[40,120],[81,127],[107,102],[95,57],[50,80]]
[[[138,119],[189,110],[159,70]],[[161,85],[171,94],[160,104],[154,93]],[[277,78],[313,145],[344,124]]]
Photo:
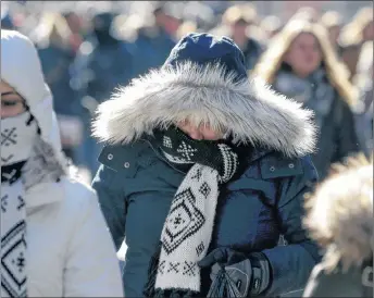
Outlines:
[[[85,169],[88,181],[99,166],[101,149],[90,136],[97,105],[115,88],[161,66],[178,39],[191,32],[230,37],[242,50],[250,74],[315,111],[323,152],[315,165],[322,176],[332,162],[354,151],[356,146],[370,154],[372,2],[358,8],[352,17],[312,7],[300,8],[290,18],[280,13],[261,15],[258,4],[2,1],[1,27],[20,30],[37,46],[54,97],[64,151]],[[312,33],[317,44],[308,36],[296,40],[301,32]],[[314,64],[321,62],[323,70],[315,71]]]

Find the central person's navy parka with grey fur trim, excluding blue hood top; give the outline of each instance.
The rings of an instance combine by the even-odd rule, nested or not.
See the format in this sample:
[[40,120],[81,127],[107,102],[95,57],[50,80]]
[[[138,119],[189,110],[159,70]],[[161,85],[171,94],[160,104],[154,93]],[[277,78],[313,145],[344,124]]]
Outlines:
[[[185,176],[159,153],[149,134],[189,113],[257,144],[248,150],[245,171],[221,191],[209,251],[262,251],[272,268],[266,296],[303,288],[319,260],[301,226],[303,195],[317,179],[307,154],[313,147],[310,113],[260,84],[235,84],[219,67],[186,63],[134,82],[101,104],[94,125],[96,136],[112,144],[99,158],[92,185],[117,249],[127,245],[125,296],[142,296],[151,256]],[[287,246],[277,246],[282,234]],[[202,272],[202,293],[209,286],[209,272]]]

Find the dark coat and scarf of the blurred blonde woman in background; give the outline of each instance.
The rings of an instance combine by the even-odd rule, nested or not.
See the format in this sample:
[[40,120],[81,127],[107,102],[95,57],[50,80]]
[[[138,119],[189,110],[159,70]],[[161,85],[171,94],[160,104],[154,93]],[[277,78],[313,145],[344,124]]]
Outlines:
[[298,78],[288,67],[283,67],[273,84],[275,90],[297,99],[315,113],[320,126],[313,163],[323,181],[333,163],[359,151],[351,108],[320,70],[306,79]]

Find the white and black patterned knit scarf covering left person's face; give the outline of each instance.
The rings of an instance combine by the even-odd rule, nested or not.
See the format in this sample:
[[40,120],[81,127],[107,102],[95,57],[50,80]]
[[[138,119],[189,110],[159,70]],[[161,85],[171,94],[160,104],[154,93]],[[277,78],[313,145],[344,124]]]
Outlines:
[[1,120],[1,297],[26,297],[26,208],[21,170],[37,136],[25,112]]

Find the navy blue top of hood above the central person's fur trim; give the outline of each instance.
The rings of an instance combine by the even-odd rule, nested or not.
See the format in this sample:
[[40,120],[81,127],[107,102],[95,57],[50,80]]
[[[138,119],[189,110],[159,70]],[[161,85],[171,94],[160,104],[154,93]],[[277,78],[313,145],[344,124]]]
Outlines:
[[216,37],[207,33],[189,34],[173,48],[164,66],[175,67],[187,61],[201,66],[220,63],[226,74],[235,74],[235,80],[248,78],[245,57],[239,47],[227,37]]

